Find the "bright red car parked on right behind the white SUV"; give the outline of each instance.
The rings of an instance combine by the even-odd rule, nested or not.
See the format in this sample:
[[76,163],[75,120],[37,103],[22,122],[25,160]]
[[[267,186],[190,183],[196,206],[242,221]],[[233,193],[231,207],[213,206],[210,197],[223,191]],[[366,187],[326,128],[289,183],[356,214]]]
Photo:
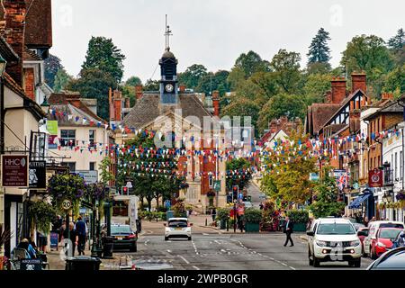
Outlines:
[[398,228],[380,228],[372,238],[370,257],[376,259],[392,247],[392,241],[400,234]]

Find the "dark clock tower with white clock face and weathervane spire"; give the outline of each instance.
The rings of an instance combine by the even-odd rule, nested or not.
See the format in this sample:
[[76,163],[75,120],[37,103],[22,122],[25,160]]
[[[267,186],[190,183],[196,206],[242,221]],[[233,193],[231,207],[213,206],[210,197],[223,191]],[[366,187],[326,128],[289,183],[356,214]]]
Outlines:
[[177,59],[170,52],[169,40],[172,35],[170,27],[167,25],[166,16],[166,49],[162,58],[159,60],[160,65],[160,103],[176,104],[178,103],[178,81],[177,81]]

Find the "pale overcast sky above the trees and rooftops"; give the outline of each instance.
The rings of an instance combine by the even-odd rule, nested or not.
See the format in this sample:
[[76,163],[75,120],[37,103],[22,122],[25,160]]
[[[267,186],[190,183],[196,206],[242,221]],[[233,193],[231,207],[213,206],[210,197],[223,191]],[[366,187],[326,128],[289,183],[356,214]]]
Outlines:
[[[165,49],[165,14],[178,71],[194,63],[229,70],[252,49],[271,60],[278,49],[300,52],[305,65],[312,37],[323,27],[332,40],[332,66],[359,34],[389,39],[405,28],[400,0],[54,0],[53,48],[76,76],[91,36],[112,38],[126,56],[124,79],[150,78]],[[153,78],[157,79],[157,69]]]

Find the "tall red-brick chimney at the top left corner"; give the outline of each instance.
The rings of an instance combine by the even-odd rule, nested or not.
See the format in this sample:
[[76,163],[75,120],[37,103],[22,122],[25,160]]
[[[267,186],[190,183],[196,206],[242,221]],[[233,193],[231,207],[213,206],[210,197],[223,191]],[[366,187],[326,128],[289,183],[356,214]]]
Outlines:
[[25,0],[4,0],[4,38],[20,58],[18,62],[9,63],[5,71],[14,81],[23,86],[23,49],[25,33]]

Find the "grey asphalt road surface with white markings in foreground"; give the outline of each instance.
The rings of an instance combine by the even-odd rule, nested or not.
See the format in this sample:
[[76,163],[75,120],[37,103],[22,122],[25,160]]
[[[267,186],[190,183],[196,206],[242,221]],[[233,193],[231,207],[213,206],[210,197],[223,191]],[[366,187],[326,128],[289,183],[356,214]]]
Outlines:
[[163,235],[144,234],[139,238],[138,252],[120,251],[116,257],[133,257],[136,266],[175,270],[302,270],[302,269],[365,269],[372,263],[363,258],[354,268],[347,262],[321,263],[320,268],[308,265],[308,248],[299,235],[295,246],[284,247],[284,234],[218,234],[194,233],[193,240],[165,241]]

